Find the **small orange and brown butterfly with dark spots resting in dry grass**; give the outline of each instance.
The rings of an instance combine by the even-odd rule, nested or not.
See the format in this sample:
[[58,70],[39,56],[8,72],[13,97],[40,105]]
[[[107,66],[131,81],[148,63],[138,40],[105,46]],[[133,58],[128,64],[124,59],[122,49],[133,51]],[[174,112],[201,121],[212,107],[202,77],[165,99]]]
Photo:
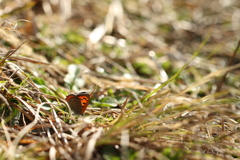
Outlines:
[[65,100],[67,101],[68,105],[70,106],[70,108],[72,109],[72,111],[75,114],[83,115],[83,113],[85,112],[85,110],[89,104],[90,98],[93,95],[94,90],[92,91],[91,94],[89,94],[87,92],[80,92],[77,94],[76,93],[69,94],[65,98]]

